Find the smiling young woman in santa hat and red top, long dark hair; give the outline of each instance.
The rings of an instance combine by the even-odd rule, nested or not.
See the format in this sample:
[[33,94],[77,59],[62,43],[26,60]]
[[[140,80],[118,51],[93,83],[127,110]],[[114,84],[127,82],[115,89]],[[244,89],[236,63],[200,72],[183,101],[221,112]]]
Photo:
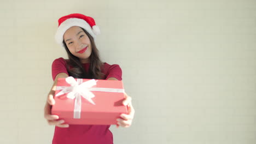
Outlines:
[[[56,82],[60,77],[73,76],[80,79],[122,80],[119,65],[103,63],[100,60],[95,45],[96,35],[100,29],[94,19],[82,14],[70,14],[59,19],[55,39],[65,48],[68,59],[57,58],[52,64],[54,84],[44,107],[44,117],[50,125],[55,125],[54,144],[63,143],[113,143],[110,125],[69,125],[59,116],[51,115],[51,105],[55,104],[54,92]],[[121,127],[129,127],[135,110],[131,97],[125,93],[124,105],[129,107],[129,113],[121,114],[117,119]]]

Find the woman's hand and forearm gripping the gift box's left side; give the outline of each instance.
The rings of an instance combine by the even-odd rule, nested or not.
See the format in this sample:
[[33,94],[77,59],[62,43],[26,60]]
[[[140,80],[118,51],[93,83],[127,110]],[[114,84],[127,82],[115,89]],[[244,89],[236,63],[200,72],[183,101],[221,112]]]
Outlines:
[[57,127],[68,128],[69,125],[65,124],[65,121],[63,119],[59,119],[59,116],[57,115],[51,115],[51,106],[55,104],[55,90],[56,82],[54,83],[53,88],[51,88],[51,91],[48,94],[48,98],[44,106],[44,118],[48,121],[49,125],[56,125]]

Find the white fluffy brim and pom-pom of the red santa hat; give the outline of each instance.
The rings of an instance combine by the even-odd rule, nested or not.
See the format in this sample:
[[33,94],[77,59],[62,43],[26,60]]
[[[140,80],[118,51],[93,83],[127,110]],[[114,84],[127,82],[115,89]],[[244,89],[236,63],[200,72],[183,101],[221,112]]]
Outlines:
[[61,44],[63,46],[63,43],[62,43],[63,35],[68,28],[71,28],[73,26],[79,26],[84,28],[85,31],[88,32],[94,39],[96,38],[97,34],[100,34],[100,29],[97,26],[93,26],[94,29],[92,30],[91,26],[85,20],[70,18],[70,19],[67,19],[66,21],[63,21],[59,26],[59,28],[57,29],[57,32],[55,34],[55,40],[58,44]]

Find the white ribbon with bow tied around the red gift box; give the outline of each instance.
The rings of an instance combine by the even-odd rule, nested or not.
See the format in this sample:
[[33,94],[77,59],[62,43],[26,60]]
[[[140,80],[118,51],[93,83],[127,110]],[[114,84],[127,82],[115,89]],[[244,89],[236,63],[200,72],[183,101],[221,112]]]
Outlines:
[[115,93],[124,93],[124,89],[121,88],[101,88],[101,87],[92,87],[96,85],[96,81],[94,79],[83,82],[83,79],[77,79],[75,81],[74,77],[69,76],[66,78],[66,82],[69,83],[71,86],[57,86],[56,90],[61,90],[55,96],[59,97],[62,94],[68,93],[67,98],[74,99],[74,118],[80,118],[81,113],[81,105],[82,105],[82,98],[88,100],[91,104],[94,104],[92,98],[95,95],[91,91],[97,92],[115,92]]

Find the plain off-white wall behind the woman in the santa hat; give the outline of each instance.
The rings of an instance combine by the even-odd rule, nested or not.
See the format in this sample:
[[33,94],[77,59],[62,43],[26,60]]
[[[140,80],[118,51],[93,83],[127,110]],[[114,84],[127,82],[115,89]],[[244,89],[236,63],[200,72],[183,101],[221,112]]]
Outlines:
[[95,18],[136,110],[114,143],[256,142],[256,1],[1,1],[0,143],[50,143],[57,19]]

